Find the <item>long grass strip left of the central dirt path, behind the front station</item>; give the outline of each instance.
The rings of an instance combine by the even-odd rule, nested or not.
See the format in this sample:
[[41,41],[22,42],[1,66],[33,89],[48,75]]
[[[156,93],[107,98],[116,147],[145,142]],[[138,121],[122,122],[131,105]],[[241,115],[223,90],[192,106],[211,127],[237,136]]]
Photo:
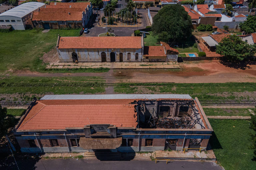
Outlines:
[[105,91],[101,77],[0,77],[0,94],[85,94]]

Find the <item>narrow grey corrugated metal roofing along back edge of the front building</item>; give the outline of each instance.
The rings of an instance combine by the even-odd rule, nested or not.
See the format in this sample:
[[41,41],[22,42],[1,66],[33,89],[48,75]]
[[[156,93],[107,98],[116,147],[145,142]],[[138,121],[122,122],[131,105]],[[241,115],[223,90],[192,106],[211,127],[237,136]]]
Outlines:
[[188,94],[99,94],[99,95],[45,95],[40,100],[81,99],[192,99]]

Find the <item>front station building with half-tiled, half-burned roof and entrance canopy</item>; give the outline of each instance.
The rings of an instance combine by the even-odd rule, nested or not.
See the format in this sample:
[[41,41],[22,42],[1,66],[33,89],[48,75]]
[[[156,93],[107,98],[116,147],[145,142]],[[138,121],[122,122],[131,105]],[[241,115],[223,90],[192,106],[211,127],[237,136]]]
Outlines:
[[213,129],[197,98],[179,94],[46,95],[13,133],[22,152],[207,147]]

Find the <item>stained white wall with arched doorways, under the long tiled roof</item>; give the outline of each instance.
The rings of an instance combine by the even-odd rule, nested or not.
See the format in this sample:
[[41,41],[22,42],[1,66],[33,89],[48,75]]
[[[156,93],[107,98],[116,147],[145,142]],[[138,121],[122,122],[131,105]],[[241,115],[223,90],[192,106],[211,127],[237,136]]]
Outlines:
[[[78,62],[101,62],[101,53],[105,52],[107,62],[110,62],[110,53],[115,53],[116,62],[119,62],[119,53],[123,53],[124,62],[136,62],[142,59],[141,48],[91,48],[91,49],[57,49],[60,62],[73,62],[72,52],[79,56]],[[131,53],[131,60],[127,60],[127,54]],[[139,54],[138,60],[135,60],[135,54]]]

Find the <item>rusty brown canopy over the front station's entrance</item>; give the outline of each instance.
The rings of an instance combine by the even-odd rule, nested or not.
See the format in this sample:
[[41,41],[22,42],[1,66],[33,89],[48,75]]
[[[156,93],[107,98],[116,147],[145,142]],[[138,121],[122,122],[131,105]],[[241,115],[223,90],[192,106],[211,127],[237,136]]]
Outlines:
[[80,137],[79,145],[84,149],[115,149],[121,146],[122,137],[118,138],[85,138]]

